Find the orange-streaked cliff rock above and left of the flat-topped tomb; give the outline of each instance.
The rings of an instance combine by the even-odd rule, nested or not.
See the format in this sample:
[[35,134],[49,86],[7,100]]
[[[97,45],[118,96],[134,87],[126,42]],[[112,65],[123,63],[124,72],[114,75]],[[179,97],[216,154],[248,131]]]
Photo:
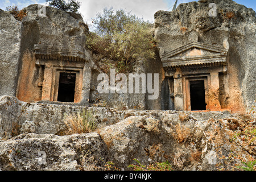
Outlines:
[[[44,8],[44,14],[40,10]],[[16,97],[19,100],[33,102],[42,100],[42,82],[44,65],[36,64],[35,45],[45,48],[45,53],[56,50],[65,53],[78,50],[77,54],[91,61],[86,51],[86,34],[88,26],[81,15],[71,14],[48,6],[30,5],[24,9],[26,16],[22,19],[19,34],[19,80],[16,85]],[[41,47],[40,47],[41,46]],[[56,55],[59,56],[59,55]],[[45,57],[45,59],[49,57]],[[61,61],[59,66],[63,67]]]

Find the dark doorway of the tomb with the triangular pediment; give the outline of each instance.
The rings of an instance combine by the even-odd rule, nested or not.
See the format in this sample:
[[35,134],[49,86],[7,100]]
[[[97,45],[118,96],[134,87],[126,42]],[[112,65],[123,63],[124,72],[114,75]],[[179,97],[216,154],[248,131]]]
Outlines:
[[206,110],[204,80],[190,81],[191,110]]

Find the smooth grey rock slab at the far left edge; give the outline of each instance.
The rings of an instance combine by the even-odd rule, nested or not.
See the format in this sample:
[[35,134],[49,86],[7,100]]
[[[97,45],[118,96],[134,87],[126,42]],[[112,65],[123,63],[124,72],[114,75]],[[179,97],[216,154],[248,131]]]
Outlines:
[[21,23],[0,9],[0,96],[15,96],[20,56]]

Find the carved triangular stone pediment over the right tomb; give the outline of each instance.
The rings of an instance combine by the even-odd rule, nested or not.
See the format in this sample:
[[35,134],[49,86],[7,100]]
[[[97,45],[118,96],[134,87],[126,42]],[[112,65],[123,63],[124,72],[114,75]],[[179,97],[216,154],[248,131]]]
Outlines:
[[227,52],[225,48],[216,47],[205,43],[192,42],[185,46],[181,46],[173,51],[162,55],[162,60],[168,60],[177,57],[200,57],[200,56],[214,56]]

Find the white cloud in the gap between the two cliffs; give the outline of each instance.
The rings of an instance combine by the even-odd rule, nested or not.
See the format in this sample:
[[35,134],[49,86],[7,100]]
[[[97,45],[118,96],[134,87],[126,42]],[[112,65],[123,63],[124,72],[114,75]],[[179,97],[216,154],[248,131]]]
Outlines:
[[97,13],[102,12],[104,7],[131,11],[131,14],[137,15],[144,20],[150,20],[150,22],[154,22],[156,11],[168,9],[168,3],[164,0],[80,0],[80,2],[82,4],[79,11],[87,23],[92,18],[95,18]]

